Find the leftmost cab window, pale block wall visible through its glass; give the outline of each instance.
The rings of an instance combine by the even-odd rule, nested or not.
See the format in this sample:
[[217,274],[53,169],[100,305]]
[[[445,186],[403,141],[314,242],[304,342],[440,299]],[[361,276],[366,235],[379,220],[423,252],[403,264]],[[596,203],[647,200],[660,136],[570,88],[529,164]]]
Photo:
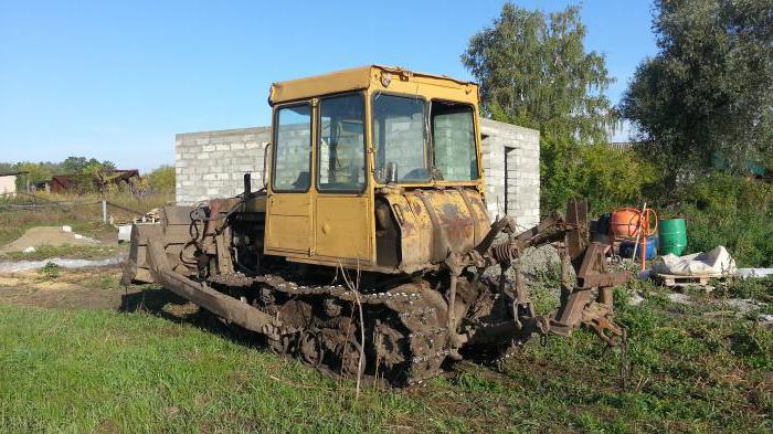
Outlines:
[[273,152],[275,191],[306,191],[309,188],[311,106],[283,107],[276,114]]

